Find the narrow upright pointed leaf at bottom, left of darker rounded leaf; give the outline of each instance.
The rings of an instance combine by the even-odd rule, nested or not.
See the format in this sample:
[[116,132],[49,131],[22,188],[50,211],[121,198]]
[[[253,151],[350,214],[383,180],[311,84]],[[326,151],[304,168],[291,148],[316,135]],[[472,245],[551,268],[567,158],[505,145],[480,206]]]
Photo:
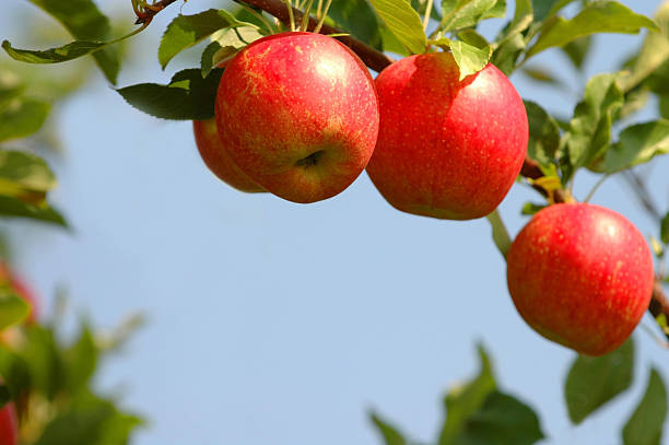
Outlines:
[[485,402],[496,388],[490,359],[482,346],[478,347],[481,371],[467,384],[451,389],[444,399],[446,421],[439,433],[438,445],[456,445],[467,420]]

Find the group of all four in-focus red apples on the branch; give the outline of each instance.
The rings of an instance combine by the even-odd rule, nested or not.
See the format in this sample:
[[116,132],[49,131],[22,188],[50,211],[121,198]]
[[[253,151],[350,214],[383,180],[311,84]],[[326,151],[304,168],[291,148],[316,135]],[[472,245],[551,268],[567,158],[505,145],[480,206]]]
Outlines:
[[[254,42],[221,78],[215,118],[193,122],[199,152],[223,181],[307,203],[366,168],[395,208],[471,220],[504,199],[525,160],[526,109],[494,66],[459,79],[449,52],[391,63],[376,80],[348,47],[306,32]],[[650,251],[622,215],[586,203],[537,213],[513,243],[507,282],[539,333],[598,355],[618,348],[647,308]]]

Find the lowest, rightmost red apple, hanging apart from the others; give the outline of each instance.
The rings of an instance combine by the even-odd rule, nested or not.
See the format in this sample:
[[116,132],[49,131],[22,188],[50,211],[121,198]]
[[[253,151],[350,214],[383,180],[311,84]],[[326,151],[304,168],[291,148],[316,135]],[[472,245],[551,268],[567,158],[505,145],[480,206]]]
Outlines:
[[623,215],[588,203],[539,211],[513,242],[508,291],[537,332],[588,355],[630,337],[653,294],[650,249]]

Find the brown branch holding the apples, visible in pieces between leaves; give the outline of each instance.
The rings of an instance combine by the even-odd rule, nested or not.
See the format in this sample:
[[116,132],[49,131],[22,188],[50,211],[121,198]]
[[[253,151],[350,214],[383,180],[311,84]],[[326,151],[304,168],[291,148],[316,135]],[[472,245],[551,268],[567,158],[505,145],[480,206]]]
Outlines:
[[[141,15],[138,14],[136,23],[139,24],[151,22],[155,14],[157,14],[160,11],[174,3],[175,1],[176,0],[161,0],[153,3],[151,5],[151,9],[142,11]],[[244,2],[267,12],[268,14],[279,19],[284,24],[290,23],[289,12],[285,7],[285,3],[283,3],[282,0],[245,0]],[[293,8],[293,15],[296,23],[300,23],[302,21],[302,11]],[[316,19],[309,17],[308,30],[314,30],[317,23],[318,22]],[[320,33],[341,34],[342,31],[337,30],[332,26],[324,25],[320,30]],[[351,36],[340,36],[336,38],[342,44],[347,45],[349,48],[351,48],[351,50],[355,52],[368,68],[376,72],[380,72],[384,68],[392,63],[392,59],[390,59],[382,51],[376,50],[367,44],[360,42]],[[528,179],[539,179],[544,176],[543,172],[539,167],[539,164],[528,156],[525,157],[523,168],[520,169],[520,175]],[[544,188],[538,185],[532,185],[532,187],[544,197],[549,196],[549,192]],[[554,202],[564,202],[566,197],[563,190],[555,190],[553,191],[552,198]],[[645,197],[642,197],[642,195],[639,194],[639,199],[642,199],[644,207],[646,207],[653,213],[657,213],[655,206],[649,204],[652,203],[652,201],[648,201],[644,198]],[[667,316],[667,319],[669,320],[669,300],[667,298],[667,295],[665,294],[665,291],[662,290],[662,286],[659,281],[656,281],[655,286],[653,289],[653,300],[650,301],[648,311],[650,312],[650,314],[653,314],[654,317],[657,317],[659,314],[665,314]],[[669,338],[669,333],[667,333],[667,338]]]

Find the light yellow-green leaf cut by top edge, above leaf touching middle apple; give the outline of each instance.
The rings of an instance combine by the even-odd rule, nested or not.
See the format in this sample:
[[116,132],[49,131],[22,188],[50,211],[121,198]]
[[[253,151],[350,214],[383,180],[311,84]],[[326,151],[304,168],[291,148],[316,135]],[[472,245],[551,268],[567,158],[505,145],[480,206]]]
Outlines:
[[506,2],[497,0],[443,0],[439,30],[443,33],[462,30],[484,19],[503,17],[505,13]]

